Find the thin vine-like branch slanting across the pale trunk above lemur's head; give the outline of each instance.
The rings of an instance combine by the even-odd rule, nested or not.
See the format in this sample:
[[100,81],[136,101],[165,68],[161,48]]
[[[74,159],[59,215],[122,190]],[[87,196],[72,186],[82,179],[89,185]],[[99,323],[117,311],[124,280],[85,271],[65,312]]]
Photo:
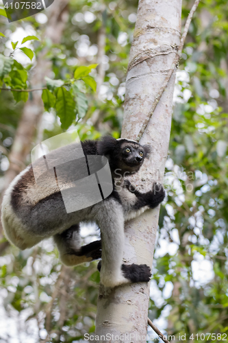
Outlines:
[[190,13],[188,14],[188,19],[187,19],[186,25],[183,29],[183,34],[181,36],[181,42],[180,42],[179,47],[177,49],[177,54],[173,60],[173,64],[171,65],[171,68],[168,71],[168,74],[164,80],[164,84],[163,84],[162,88],[160,88],[160,91],[157,93],[157,96],[155,97],[155,100],[151,106],[151,111],[150,111],[148,117],[144,120],[144,123],[142,125],[142,128],[138,134],[136,141],[140,141],[140,139],[142,138],[142,134],[144,133],[144,131],[147,128],[147,125],[148,125],[148,123],[149,123],[149,121],[150,121],[150,119],[151,119],[151,117],[155,111],[155,108],[156,108],[158,102],[160,101],[162,94],[164,93],[164,90],[166,89],[166,86],[167,86],[171,76],[173,75],[173,71],[175,71],[175,69],[177,68],[177,65],[179,64],[179,59],[181,58],[181,52],[183,50],[183,45],[184,45],[184,42],[186,40],[186,36],[188,34],[188,29],[189,29],[190,23],[192,21],[192,16],[193,16],[194,12],[197,10],[199,2],[200,2],[200,0],[195,0],[194,5],[192,6],[192,10],[190,10]]

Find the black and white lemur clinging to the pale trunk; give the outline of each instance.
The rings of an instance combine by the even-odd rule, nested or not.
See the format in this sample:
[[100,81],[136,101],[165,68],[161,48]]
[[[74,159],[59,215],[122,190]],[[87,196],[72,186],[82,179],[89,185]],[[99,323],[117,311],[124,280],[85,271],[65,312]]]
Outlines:
[[[85,156],[107,157],[114,184],[110,196],[86,209],[66,213],[58,186],[37,185],[29,165],[5,191],[1,215],[5,236],[22,250],[53,236],[65,265],[78,265],[100,259],[102,255],[101,283],[105,287],[148,282],[151,270],[147,265],[123,264],[124,224],[160,204],[164,200],[164,189],[154,184],[151,191],[140,193],[124,179],[118,180],[117,186],[115,173],[116,176],[136,173],[144,158],[149,157],[149,146],[129,139],[103,137],[100,141],[82,141],[81,147]],[[51,152],[55,153],[59,154],[58,150]],[[80,222],[97,223],[102,242],[81,246]]]

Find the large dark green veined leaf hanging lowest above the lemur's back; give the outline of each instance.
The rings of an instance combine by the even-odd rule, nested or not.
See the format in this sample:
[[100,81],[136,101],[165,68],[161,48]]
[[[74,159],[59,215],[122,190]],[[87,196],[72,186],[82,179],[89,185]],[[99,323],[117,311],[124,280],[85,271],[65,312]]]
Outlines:
[[60,87],[57,90],[55,103],[56,114],[60,117],[62,128],[67,129],[75,119],[75,102],[66,88]]

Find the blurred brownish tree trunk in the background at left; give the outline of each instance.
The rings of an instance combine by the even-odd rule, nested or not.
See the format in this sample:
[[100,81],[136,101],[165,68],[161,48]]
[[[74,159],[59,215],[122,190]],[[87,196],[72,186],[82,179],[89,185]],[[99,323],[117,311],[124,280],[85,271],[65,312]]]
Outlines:
[[[49,21],[45,29],[45,38],[51,39],[53,44],[58,44],[61,41],[62,32],[66,20],[68,19],[68,0],[55,0],[49,11]],[[51,62],[45,58],[47,48],[42,50],[37,57],[36,67],[33,75],[31,75],[31,88],[40,88],[45,83],[45,76],[51,72]],[[4,186],[8,188],[10,182],[15,176],[25,168],[27,155],[31,150],[31,144],[34,139],[36,128],[40,122],[43,113],[43,104],[41,92],[35,91],[29,94],[30,99],[26,102],[23,108],[23,115],[18,123],[18,128],[14,137],[14,143],[9,155],[10,167],[5,172]],[[1,194],[1,199],[3,193]],[[0,239],[2,235],[2,226],[0,224]],[[8,242],[0,244],[0,255],[8,246]]]

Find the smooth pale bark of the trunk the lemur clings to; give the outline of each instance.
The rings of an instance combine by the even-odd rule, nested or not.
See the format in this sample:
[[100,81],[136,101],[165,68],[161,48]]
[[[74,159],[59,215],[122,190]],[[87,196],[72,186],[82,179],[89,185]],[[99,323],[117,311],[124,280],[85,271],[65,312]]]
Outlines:
[[[181,0],[139,1],[127,71],[122,137],[136,139],[138,136],[175,58],[180,34]],[[139,174],[131,177],[131,182],[143,191],[151,189],[154,181],[162,182],[164,176],[174,84],[175,75],[140,141],[152,147],[150,160],[144,163]],[[152,266],[159,211],[157,207],[126,223],[125,262]],[[108,342],[121,342],[121,339],[115,339],[121,334],[123,342],[146,342],[148,305],[149,284],[131,284],[110,291],[100,287],[96,334],[113,335]]]

